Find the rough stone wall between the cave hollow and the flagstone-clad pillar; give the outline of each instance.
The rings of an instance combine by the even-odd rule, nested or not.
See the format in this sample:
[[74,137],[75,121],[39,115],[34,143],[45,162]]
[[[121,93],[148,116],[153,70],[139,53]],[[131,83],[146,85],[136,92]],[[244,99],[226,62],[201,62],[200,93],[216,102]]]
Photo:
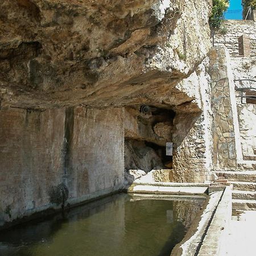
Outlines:
[[174,151],[174,180],[177,182],[212,179],[212,111],[208,66],[209,59],[206,58],[195,73],[178,85],[186,88],[188,95],[194,98],[193,101],[203,112]]

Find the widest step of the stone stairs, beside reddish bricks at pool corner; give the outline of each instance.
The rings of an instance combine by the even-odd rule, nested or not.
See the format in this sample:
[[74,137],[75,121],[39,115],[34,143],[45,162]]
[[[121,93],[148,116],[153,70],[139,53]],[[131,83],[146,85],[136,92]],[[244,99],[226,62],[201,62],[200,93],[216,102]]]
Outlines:
[[225,177],[229,181],[256,181],[256,171],[216,171],[218,177]]

